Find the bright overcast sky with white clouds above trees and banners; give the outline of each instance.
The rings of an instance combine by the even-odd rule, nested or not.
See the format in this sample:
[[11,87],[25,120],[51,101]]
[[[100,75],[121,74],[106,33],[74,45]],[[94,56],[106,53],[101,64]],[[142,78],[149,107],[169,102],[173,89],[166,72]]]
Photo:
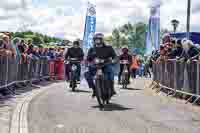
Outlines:
[[[187,0],[161,3],[162,28],[171,30],[170,20],[175,18],[181,22],[178,30],[185,31]],[[152,0],[96,0],[97,31],[109,34],[128,21],[147,23],[151,4]],[[26,25],[52,36],[82,38],[86,8],[87,0],[1,0],[0,30],[16,31]],[[192,0],[192,31],[200,31],[199,22],[200,0]]]

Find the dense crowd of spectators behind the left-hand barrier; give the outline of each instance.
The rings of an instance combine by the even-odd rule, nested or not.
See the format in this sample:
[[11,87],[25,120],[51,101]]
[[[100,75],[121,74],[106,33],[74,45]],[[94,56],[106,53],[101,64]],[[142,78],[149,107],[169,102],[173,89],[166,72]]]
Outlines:
[[27,58],[39,59],[47,57],[48,59],[62,58],[64,49],[60,47],[43,47],[42,45],[33,45],[32,40],[26,41],[23,38],[11,39],[11,36],[0,34],[0,55],[13,56],[19,62],[26,62]]

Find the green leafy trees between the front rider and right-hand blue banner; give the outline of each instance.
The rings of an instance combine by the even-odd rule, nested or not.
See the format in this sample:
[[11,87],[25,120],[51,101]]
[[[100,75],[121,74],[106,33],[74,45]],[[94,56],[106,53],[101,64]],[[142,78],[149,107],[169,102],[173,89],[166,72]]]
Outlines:
[[115,48],[127,46],[131,50],[137,50],[139,54],[144,54],[146,30],[147,25],[143,22],[127,23],[113,29],[112,35],[107,36],[106,41]]

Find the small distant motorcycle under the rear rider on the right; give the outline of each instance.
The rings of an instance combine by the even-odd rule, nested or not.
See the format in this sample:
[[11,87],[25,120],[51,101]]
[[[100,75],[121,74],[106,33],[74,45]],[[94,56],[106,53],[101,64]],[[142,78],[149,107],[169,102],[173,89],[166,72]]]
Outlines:
[[123,71],[122,71],[122,78],[121,78],[122,88],[127,89],[127,86],[129,84],[129,73],[128,73],[129,61],[128,60],[122,60],[122,61],[120,61],[120,64],[124,65],[124,68],[123,68]]

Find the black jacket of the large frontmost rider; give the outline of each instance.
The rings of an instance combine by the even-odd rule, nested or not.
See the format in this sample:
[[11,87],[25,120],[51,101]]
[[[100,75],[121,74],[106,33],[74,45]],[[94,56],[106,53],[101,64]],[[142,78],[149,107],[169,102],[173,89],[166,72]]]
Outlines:
[[87,60],[93,61],[95,58],[107,60],[109,58],[115,59],[117,57],[112,46],[103,45],[102,47],[92,47],[88,51]]

